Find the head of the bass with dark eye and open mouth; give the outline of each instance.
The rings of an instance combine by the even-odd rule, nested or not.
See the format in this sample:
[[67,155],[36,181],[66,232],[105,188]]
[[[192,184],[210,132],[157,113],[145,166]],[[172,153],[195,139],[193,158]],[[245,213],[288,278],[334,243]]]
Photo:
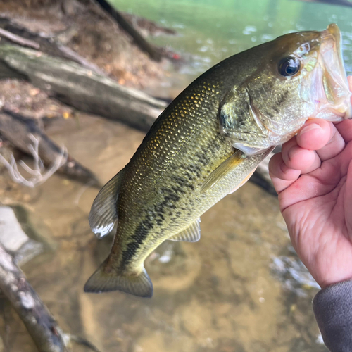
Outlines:
[[219,119],[220,133],[244,153],[287,142],[310,118],[352,118],[337,25],[285,34],[243,58],[255,70],[227,92]]

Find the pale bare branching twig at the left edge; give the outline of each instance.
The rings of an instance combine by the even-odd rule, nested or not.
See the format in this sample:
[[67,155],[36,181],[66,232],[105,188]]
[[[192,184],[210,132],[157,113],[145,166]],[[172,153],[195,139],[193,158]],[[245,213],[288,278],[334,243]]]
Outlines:
[[[33,134],[29,135],[30,139],[33,142],[33,145],[29,146],[30,153],[32,154],[34,158],[34,169],[31,169],[27,164],[25,164],[24,161],[20,161],[20,165],[22,166],[25,171],[27,171],[32,177],[30,180],[25,179],[23,175],[20,174],[20,171],[18,170],[17,163],[15,161],[15,157],[13,154],[11,154],[11,161],[8,162],[4,156],[0,154],[0,162],[5,165],[7,168],[8,172],[10,172],[11,178],[13,181],[16,183],[23,184],[27,187],[34,188],[39,186],[39,184],[44,183],[46,180],[51,177],[51,175],[58,170],[58,168],[61,168],[62,165],[64,165],[67,161],[68,158],[68,153],[66,149],[63,147],[61,149],[61,153],[58,155],[58,157],[55,159],[54,163],[51,164],[51,167],[44,172],[44,164],[41,158],[39,158],[39,142],[40,138],[36,138],[33,136]],[[44,173],[43,173],[44,172]]]

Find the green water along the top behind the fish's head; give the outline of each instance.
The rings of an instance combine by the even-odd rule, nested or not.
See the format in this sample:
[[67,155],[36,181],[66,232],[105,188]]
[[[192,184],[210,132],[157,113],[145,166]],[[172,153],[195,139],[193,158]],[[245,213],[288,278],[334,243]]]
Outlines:
[[177,30],[151,39],[189,58],[189,79],[228,56],[300,30],[337,23],[343,34],[346,71],[352,74],[352,7],[294,0],[111,0],[116,8]]

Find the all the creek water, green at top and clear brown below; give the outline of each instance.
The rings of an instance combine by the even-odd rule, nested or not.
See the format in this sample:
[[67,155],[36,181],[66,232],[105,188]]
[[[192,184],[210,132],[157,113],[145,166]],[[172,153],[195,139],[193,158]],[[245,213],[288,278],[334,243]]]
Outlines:
[[[290,31],[321,30],[331,22],[343,32],[346,69],[352,73],[351,8],[291,0],[119,0],[118,8],[180,33],[153,39],[189,61],[177,80],[165,82],[167,94],[177,94],[211,65],[254,44]],[[102,183],[125,166],[144,137],[84,114],[53,122],[48,133]],[[23,270],[65,332],[106,352],[327,351],[311,310],[318,285],[291,248],[275,197],[248,182],[202,216],[201,241],[166,241],[146,260],[154,296],[143,299],[83,292],[111,245],[89,229],[97,191],[59,175],[36,189],[0,189],[0,201],[25,204],[56,244],[56,251],[34,258]],[[5,351],[36,351],[13,310],[0,307]]]

